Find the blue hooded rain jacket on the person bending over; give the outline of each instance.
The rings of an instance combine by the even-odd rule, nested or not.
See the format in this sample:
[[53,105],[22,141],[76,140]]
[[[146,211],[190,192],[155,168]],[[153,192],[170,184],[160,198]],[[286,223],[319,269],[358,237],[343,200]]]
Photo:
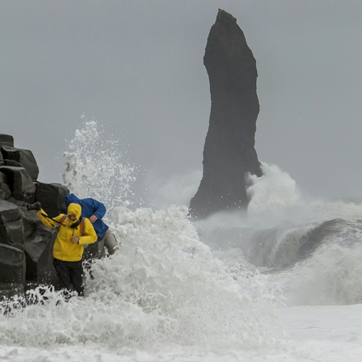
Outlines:
[[106,213],[106,207],[101,202],[91,198],[80,199],[76,197],[75,194],[67,195],[67,207],[72,202],[77,203],[82,207],[82,216],[84,218],[89,219],[92,215],[97,216],[98,220],[92,225],[94,227],[94,230],[96,230],[98,240],[101,240],[102,237],[104,237],[106,231],[108,230],[108,226],[102,221],[102,217]]

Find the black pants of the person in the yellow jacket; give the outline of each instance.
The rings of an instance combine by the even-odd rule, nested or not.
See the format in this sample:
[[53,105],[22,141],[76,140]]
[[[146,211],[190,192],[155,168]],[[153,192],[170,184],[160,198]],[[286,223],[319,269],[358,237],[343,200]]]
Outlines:
[[53,264],[62,286],[69,291],[75,290],[78,295],[83,295],[82,261],[62,261],[54,258]]

